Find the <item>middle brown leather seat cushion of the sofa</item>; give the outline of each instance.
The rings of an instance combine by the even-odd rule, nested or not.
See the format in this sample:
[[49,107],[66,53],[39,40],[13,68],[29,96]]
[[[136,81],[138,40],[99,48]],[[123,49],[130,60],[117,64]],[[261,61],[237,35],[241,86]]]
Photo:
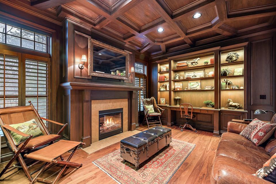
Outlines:
[[227,156],[255,168],[262,167],[270,158],[268,154],[231,141],[220,141],[216,155]]

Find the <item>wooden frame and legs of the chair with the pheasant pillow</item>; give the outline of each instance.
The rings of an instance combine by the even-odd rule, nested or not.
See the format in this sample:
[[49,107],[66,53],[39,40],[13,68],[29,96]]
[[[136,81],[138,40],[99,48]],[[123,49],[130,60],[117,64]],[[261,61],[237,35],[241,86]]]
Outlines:
[[[44,129],[44,131],[46,132],[47,135],[50,135],[50,133],[49,133],[47,127],[45,126],[45,124],[43,123],[42,120],[46,120],[46,121],[48,121],[48,122],[51,122],[51,123],[55,123],[55,124],[61,125],[62,128],[61,128],[60,131],[57,133],[57,135],[60,135],[60,133],[62,133],[62,131],[64,130],[64,128],[67,126],[67,123],[66,123],[66,124],[62,124],[62,123],[59,123],[59,122],[55,122],[55,121],[52,121],[52,120],[49,120],[49,119],[40,117],[39,114],[38,114],[38,112],[37,112],[37,110],[36,110],[36,109],[34,108],[34,106],[32,105],[31,101],[28,101],[28,102],[30,103],[30,107],[32,108],[32,110],[34,111],[34,113],[36,114],[36,116],[37,116],[37,118],[38,118],[38,120],[39,120],[39,122],[37,122],[37,123],[40,123],[40,124],[41,124],[41,126],[43,127],[43,129]],[[24,106],[23,106],[23,107],[24,107]],[[3,109],[9,109],[9,108],[10,108],[10,107],[3,108]],[[26,148],[26,145],[28,144],[28,142],[30,141],[30,139],[32,138],[33,135],[28,135],[28,134],[22,133],[22,132],[20,132],[20,131],[18,131],[18,130],[16,130],[16,129],[12,128],[11,126],[9,126],[8,124],[5,124],[5,123],[3,122],[3,120],[1,119],[1,117],[0,117],[0,126],[1,126],[1,128],[2,128],[2,131],[3,131],[4,135],[5,135],[5,137],[7,138],[8,143],[9,143],[10,146],[11,146],[12,151],[14,152],[14,156],[11,158],[11,160],[7,163],[7,165],[5,166],[5,168],[2,170],[2,172],[0,173],[0,177],[1,177],[3,174],[8,173],[8,172],[11,171],[11,170],[14,170],[16,167],[11,166],[11,164],[12,164],[12,162],[14,162],[15,159],[18,159],[18,162],[19,162],[18,165],[21,165],[21,167],[23,168],[24,172],[26,173],[28,179],[29,179],[30,181],[32,181],[32,179],[33,179],[33,178],[32,178],[32,174],[35,173],[35,172],[37,172],[40,168],[37,169],[37,170],[35,170],[35,171],[33,171],[32,173],[30,173],[30,171],[29,171],[28,169],[31,168],[32,166],[36,165],[36,164],[39,163],[40,161],[36,161],[36,162],[34,162],[33,164],[27,166],[27,165],[26,165],[26,162],[25,162],[24,159],[22,158],[21,153],[26,152],[26,151],[30,152],[31,150],[37,149],[37,148],[39,148],[39,147],[41,147],[41,146],[43,146],[43,145],[46,145],[46,144],[53,144],[54,141],[55,141],[56,139],[60,138],[60,136],[55,137],[55,138],[53,138],[53,139],[49,139],[49,140],[47,140],[47,141],[45,141],[45,142],[43,142],[43,143],[37,144],[37,145],[35,145],[34,147],[31,147],[31,148],[28,147],[28,148]],[[13,132],[15,132],[15,133],[17,133],[17,134],[19,134],[19,135],[21,135],[21,136],[23,136],[23,137],[28,137],[28,139],[26,139],[26,141],[23,142],[23,144],[21,145],[21,147],[18,148],[18,147],[15,145],[15,143],[14,143],[12,137],[11,137],[11,134],[9,133],[9,131],[13,131]],[[61,158],[61,159],[63,159],[63,158]],[[6,172],[6,171],[7,171],[7,172]]]

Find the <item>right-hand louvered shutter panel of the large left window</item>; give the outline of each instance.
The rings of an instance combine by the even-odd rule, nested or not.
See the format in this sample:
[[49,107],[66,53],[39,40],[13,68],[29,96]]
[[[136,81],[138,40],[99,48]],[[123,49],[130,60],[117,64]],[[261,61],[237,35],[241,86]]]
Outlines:
[[[26,105],[31,101],[39,115],[48,119],[49,115],[49,83],[48,62],[39,60],[25,60],[26,74]],[[46,127],[48,122],[43,120]]]

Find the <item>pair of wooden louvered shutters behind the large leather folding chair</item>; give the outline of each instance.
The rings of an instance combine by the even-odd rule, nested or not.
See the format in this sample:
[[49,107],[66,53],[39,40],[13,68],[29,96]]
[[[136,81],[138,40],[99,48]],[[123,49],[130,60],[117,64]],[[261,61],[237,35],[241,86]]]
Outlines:
[[[29,105],[28,101],[32,101],[39,115],[48,118],[49,66],[50,58],[46,57],[17,52],[0,54],[0,108]],[[48,127],[48,122],[43,122]]]

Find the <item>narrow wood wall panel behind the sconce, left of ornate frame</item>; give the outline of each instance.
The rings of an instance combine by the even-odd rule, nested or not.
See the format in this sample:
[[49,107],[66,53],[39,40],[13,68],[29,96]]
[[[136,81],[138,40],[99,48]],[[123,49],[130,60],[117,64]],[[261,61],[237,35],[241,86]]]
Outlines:
[[[91,78],[88,75],[88,63],[89,63],[89,36],[75,31],[74,34],[74,77],[78,78]],[[82,55],[86,55],[87,62],[84,64],[84,68],[78,68],[78,64],[83,63],[81,61]]]

